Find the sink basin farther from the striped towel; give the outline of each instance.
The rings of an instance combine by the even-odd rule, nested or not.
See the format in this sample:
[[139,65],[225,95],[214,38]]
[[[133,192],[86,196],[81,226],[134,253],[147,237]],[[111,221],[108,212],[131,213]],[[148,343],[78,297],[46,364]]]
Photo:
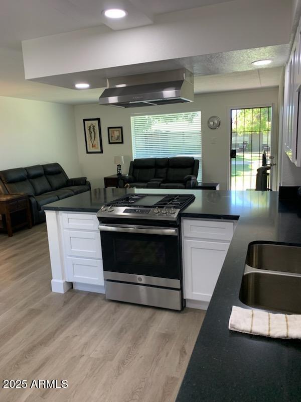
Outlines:
[[253,243],[249,245],[246,264],[257,269],[301,274],[301,247]]

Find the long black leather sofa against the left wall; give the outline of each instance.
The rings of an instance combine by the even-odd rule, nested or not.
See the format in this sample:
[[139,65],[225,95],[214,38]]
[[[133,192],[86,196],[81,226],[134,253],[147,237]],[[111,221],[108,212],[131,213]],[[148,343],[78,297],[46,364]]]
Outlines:
[[43,205],[89,191],[90,187],[86,177],[69,179],[59,163],[0,171],[0,193],[29,195],[34,225],[45,221]]

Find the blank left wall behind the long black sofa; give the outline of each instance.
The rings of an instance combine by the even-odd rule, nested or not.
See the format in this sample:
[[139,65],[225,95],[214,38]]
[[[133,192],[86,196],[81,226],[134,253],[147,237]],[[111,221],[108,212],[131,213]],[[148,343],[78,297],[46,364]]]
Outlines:
[[59,162],[81,175],[73,106],[0,96],[0,170]]

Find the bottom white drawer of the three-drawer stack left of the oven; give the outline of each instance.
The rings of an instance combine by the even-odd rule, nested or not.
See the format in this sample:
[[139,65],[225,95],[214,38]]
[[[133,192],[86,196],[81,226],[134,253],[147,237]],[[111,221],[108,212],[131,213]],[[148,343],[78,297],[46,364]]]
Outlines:
[[103,285],[102,261],[67,257],[67,280],[70,282]]

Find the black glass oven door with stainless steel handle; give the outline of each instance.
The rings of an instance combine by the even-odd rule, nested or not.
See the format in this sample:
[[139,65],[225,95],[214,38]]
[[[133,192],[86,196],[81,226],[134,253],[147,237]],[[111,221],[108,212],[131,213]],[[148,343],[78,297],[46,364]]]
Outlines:
[[178,228],[99,225],[104,279],[181,288]]

